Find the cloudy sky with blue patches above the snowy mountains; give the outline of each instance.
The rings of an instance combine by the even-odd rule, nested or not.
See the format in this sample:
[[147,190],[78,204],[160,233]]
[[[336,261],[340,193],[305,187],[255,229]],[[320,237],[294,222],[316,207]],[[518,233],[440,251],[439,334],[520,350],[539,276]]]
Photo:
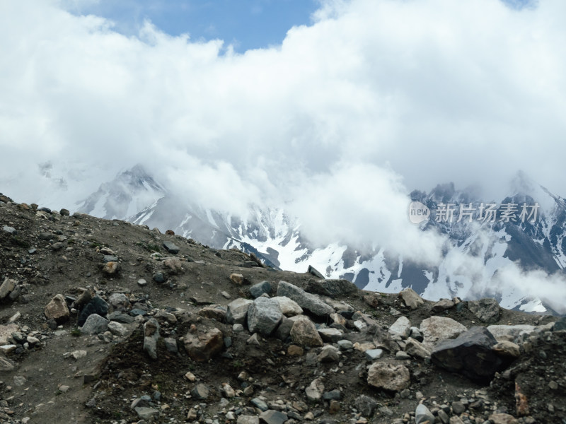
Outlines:
[[523,170],[566,196],[563,16],[562,0],[1,1],[0,191],[62,207],[141,163],[202,206],[283,205],[320,242],[401,245],[412,189],[502,199]]

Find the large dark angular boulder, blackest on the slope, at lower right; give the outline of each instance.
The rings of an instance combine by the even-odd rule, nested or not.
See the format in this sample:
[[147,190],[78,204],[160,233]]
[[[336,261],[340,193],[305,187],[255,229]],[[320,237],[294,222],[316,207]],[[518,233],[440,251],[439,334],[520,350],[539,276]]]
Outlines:
[[454,340],[441,341],[432,351],[432,363],[475,382],[489,382],[506,365],[492,351],[495,344],[495,337],[485,327],[475,326]]

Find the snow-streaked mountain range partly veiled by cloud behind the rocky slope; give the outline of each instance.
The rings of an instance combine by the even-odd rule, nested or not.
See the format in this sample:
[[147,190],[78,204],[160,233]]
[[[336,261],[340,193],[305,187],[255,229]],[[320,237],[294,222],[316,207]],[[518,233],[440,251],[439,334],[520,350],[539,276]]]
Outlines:
[[[328,278],[347,278],[366,290],[395,293],[412,287],[428,299],[492,296],[507,308],[560,309],[545,295],[533,295],[536,290],[515,285],[509,269],[564,275],[565,199],[519,174],[511,194],[499,202],[486,202],[475,189],[456,190],[454,184],[439,185],[428,194],[412,192],[408,204],[411,200],[431,211],[422,231],[445,237],[444,257],[434,266],[404,260],[386,246],[312,245],[300,223],[281,209],[253,206],[247,218],[238,218],[201,208],[168,193],[140,166],[102,184],[79,210],[171,229],[217,249],[238,247],[279,269],[305,272],[311,265]],[[513,216],[509,204],[515,205]]]

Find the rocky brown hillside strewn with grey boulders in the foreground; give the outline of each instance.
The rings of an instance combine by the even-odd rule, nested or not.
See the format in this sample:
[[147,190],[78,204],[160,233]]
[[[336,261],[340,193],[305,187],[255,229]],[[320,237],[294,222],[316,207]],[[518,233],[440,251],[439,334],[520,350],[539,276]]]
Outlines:
[[310,271],[1,195],[0,423],[566,423],[564,318]]

